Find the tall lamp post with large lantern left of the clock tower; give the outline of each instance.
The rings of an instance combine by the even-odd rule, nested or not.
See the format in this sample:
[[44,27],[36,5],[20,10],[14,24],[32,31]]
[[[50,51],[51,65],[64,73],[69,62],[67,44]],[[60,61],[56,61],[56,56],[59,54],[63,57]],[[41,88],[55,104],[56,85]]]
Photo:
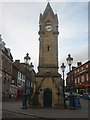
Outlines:
[[29,65],[30,61],[29,54],[27,53],[26,56],[24,57],[25,60],[25,65],[26,65],[26,79],[25,79],[25,87],[24,87],[24,94],[23,94],[23,109],[27,109],[27,67]]

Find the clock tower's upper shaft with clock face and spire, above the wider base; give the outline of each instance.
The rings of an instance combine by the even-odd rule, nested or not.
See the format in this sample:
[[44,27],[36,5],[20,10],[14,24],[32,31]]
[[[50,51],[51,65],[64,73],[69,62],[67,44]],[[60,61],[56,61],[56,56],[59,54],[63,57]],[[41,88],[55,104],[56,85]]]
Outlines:
[[39,72],[58,71],[58,18],[50,4],[39,20]]

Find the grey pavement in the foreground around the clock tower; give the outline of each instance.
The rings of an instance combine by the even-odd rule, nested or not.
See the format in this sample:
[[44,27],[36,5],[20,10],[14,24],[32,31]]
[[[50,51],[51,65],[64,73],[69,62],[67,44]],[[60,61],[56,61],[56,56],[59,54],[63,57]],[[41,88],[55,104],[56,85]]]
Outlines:
[[[2,115],[5,118],[5,111],[18,113],[23,118],[26,115],[28,118],[88,118],[88,100],[80,99],[81,108],[70,110],[70,109],[59,109],[59,108],[28,108],[22,109],[22,101],[3,101],[2,102]],[[68,106],[68,101],[66,102]],[[8,117],[8,116],[7,116]],[[15,116],[12,116],[15,118]]]

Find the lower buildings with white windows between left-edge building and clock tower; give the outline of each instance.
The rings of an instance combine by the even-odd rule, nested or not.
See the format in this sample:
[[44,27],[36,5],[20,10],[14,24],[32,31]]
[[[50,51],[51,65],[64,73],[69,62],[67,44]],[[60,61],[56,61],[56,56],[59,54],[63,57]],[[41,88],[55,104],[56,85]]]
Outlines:
[[[34,91],[35,87],[35,71],[30,70],[30,65],[26,69],[25,63],[20,63],[20,60],[15,60],[13,63],[13,74],[12,74],[12,85],[11,91],[16,91],[16,99],[19,100],[22,98],[22,94],[25,90],[25,80],[27,86],[27,93],[31,94]],[[27,78],[26,78],[27,77]],[[15,90],[16,89],[16,90]]]

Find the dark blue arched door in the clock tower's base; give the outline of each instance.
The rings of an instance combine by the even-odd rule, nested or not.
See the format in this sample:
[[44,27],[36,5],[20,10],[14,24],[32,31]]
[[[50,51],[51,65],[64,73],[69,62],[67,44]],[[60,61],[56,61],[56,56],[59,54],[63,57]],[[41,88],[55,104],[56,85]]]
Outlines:
[[52,91],[50,89],[44,90],[44,107],[52,107]]

